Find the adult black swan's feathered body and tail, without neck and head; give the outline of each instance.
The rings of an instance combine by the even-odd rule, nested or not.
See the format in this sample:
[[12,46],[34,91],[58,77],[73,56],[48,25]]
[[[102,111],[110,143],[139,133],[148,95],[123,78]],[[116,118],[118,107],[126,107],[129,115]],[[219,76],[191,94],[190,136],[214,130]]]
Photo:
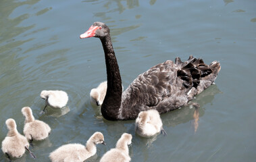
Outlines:
[[192,55],[188,61],[165,61],[140,74],[122,93],[118,117],[136,119],[140,111],[166,113],[182,107],[208,88],[220,71],[220,63],[206,65]]

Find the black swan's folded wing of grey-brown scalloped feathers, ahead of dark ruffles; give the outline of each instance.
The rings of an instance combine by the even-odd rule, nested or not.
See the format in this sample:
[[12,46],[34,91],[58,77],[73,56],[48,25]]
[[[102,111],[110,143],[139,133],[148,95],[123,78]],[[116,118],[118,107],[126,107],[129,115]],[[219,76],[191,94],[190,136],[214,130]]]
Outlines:
[[[153,107],[169,97],[176,85],[176,65],[168,60],[140,74],[122,94],[122,105],[126,107]],[[182,83],[179,84],[182,86]]]

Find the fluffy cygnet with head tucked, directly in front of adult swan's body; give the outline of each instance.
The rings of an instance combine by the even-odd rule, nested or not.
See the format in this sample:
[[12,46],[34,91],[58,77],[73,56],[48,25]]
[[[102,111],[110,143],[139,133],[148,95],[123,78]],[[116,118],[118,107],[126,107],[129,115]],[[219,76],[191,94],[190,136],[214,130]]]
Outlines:
[[159,112],[155,109],[141,111],[135,121],[135,132],[143,137],[151,137],[155,134],[162,132],[167,135],[163,130],[163,123]]

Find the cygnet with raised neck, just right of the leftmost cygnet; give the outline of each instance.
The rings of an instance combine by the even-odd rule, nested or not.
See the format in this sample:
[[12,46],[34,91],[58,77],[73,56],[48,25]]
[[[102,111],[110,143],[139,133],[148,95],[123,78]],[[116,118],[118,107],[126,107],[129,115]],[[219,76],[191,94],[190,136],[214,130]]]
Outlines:
[[51,128],[44,121],[35,120],[30,107],[23,107],[22,114],[26,117],[23,133],[30,142],[44,140],[49,136]]

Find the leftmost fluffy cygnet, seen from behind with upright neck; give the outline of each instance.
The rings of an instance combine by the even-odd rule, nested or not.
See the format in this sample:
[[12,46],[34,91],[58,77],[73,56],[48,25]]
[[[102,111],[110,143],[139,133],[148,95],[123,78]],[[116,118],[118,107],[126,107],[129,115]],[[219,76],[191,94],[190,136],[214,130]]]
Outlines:
[[8,133],[2,142],[2,151],[9,159],[11,157],[18,158],[24,155],[27,150],[30,155],[36,158],[29,150],[29,143],[26,137],[22,136],[18,130],[14,119],[7,119],[5,124],[8,128]]

